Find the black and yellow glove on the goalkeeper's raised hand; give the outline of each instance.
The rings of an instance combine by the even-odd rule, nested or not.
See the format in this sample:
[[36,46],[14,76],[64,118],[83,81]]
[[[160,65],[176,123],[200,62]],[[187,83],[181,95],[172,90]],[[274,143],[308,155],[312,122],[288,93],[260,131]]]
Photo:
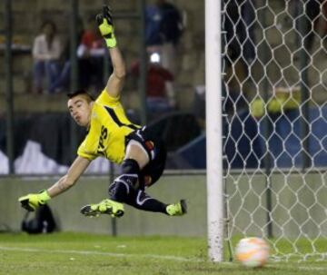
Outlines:
[[95,19],[107,47],[114,48],[117,42],[114,37],[113,15],[109,6],[104,5],[102,14],[96,15]]

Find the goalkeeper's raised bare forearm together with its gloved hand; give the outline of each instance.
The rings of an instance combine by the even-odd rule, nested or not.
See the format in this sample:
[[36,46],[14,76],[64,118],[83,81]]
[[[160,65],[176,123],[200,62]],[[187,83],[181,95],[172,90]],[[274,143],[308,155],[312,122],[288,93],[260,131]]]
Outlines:
[[113,15],[108,6],[104,5],[102,14],[96,15],[96,22],[99,25],[100,33],[104,37],[105,44],[109,49],[114,67],[114,72],[110,75],[105,90],[111,96],[117,97],[123,89],[126,68],[123,56],[117,47],[117,41],[114,35]]

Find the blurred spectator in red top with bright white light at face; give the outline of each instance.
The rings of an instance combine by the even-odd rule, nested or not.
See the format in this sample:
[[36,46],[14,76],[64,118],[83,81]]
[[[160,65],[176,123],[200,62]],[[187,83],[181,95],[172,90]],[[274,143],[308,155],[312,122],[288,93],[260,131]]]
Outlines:
[[[146,103],[151,113],[170,111],[175,107],[173,93],[173,74],[158,62],[158,55],[153,55],[147,65]],[[131,65],[132,76],[139,76],[140,63]]]

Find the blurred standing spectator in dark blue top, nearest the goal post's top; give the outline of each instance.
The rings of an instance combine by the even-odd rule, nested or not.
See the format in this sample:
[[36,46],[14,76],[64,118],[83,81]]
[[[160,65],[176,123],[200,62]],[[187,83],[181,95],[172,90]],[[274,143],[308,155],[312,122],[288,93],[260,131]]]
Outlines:
[[165,0],[156,0],[145,10],[145,44],[148,53],[161,55],[162,65],[175,74],[176,46],[183,32],[180,11]]

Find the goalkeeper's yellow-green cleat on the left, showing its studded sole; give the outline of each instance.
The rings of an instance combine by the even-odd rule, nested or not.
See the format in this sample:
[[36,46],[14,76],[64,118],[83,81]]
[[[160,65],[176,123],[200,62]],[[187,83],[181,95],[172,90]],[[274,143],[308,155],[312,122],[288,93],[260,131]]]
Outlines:
[[81,213],[87,217],[98,217],[101,214],[122,217],[124,215],[124,204],[105,199],[99,203],[85,205],[81,208]]

